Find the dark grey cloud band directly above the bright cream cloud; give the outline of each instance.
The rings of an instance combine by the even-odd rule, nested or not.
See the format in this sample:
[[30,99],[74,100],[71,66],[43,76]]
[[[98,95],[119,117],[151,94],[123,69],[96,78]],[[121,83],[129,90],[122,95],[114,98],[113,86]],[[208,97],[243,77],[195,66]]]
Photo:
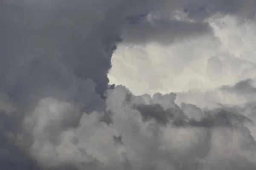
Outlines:
[[[170,7],[172,6],[172,7]],[[159,42],[172,43],[182,40],[184,37],[195,37],[203,34],[212,34],[212,30],[206,19],[215,14],[235,15],[245,19],[254,18],[256,3],[247,1],[172,1],[148,0],[148,16],[129,18],[122,37],[128,43]],[[166,10],[164,10],[166,9]],[[175,12],[179,10],[185,13],[182,20],[176,20]],[[143,12],[139,13],[143,14]],[[151,15],[151,16],[150,16]],[[136,17],[137,16],[137,17]],[[156,16],[156,17],[155,17]],[[164,19],[159,19],[163,17]],[[151,19],[147,19],[151,18]],[[172,18],[170,20],[170,18]],[[191,22],[193,20],[193,22]]]

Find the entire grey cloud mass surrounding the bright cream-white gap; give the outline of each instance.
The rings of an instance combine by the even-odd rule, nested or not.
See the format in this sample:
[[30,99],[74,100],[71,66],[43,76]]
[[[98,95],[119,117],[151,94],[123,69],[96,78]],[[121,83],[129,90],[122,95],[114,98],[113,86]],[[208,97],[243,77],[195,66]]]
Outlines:
[[[1,0],[0,170],[255,170],[253,102],[178,106],[174,93],[135,96],[108,80],[119,42],[194,39],[212,34],[207,18],[214,14],[246,18],[253,6]],[[187,16],[177,19],[175,11]],[[135,23],[125,19],[146,12]],[[252,101],[256,91],[250,80],[220,89]]]

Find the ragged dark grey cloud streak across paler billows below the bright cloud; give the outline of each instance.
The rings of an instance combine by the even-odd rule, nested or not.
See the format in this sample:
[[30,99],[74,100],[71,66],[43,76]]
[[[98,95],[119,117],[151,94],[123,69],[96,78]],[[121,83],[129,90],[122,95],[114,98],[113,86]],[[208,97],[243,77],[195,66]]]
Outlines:
[[[186,105],[186,106],[185,106]],[[159,104],[152,105],[134,105],[134,108],[137,109],[143,116],[143,120],[148,121],[154,119],[160,124],[163,125],[175,125],[175,126],[194,126],[194,127],[203,127],[203,128],[214,128],[218,126],[224,127],[233,127],[237,122],[244,123],[252,121],[244,115],[241,115],[237,112],[237,109],[232,108],[218,108],[211,111],[202,111],[200,108],[193,107],[190,108],[190,112],[195,111],[195,114],[202,116],[200,119],[196,120],[194,117],[189,118],[187,114],[184,113],[187,107],[191,104],[182,104],[182,108],[175,105],[174,108],[164,109]],[[191,107],[191,106],[190,106]],[[201,113],[202,112],[202,113]]]

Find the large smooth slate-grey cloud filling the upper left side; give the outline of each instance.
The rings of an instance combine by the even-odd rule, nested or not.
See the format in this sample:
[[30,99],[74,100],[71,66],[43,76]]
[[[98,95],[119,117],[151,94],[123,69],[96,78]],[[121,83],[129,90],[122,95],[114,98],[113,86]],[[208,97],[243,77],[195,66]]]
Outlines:
[[[119,10],[114,9],[118,3],[102,6],[98,2],[99,6],[80,0],[1,1],[0,92],[15,108],[11,113],[1,108],[3,170],[37,169],[35,158],[29,154],[34,139],[24,120],[41,99],[53,97],[78,107],[62,122],[53,122],[45,129],[49,141],[55,144],[60,136],[54,133],[76,127],[80,111],[104,109],[99,95],[108,88],[111,55],[120,41],[120,15],[113,15]],[[109,27],[109,22],[115,25]],[[9,139],[6,133],[14,137]],[[19,147],[17,140],[21,140]]]

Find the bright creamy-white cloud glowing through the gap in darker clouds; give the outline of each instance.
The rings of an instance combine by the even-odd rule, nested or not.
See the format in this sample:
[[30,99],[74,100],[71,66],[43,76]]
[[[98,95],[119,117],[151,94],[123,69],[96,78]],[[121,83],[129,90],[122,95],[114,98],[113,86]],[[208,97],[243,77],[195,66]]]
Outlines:
[[208,91],[255,79],[255,22],[217,15],[209,18],[209,25],[213,34],[188,36],[171,44],[124,40],[112,57],[111,83],[126,85],[135,94],[153,95],[196,88]]

